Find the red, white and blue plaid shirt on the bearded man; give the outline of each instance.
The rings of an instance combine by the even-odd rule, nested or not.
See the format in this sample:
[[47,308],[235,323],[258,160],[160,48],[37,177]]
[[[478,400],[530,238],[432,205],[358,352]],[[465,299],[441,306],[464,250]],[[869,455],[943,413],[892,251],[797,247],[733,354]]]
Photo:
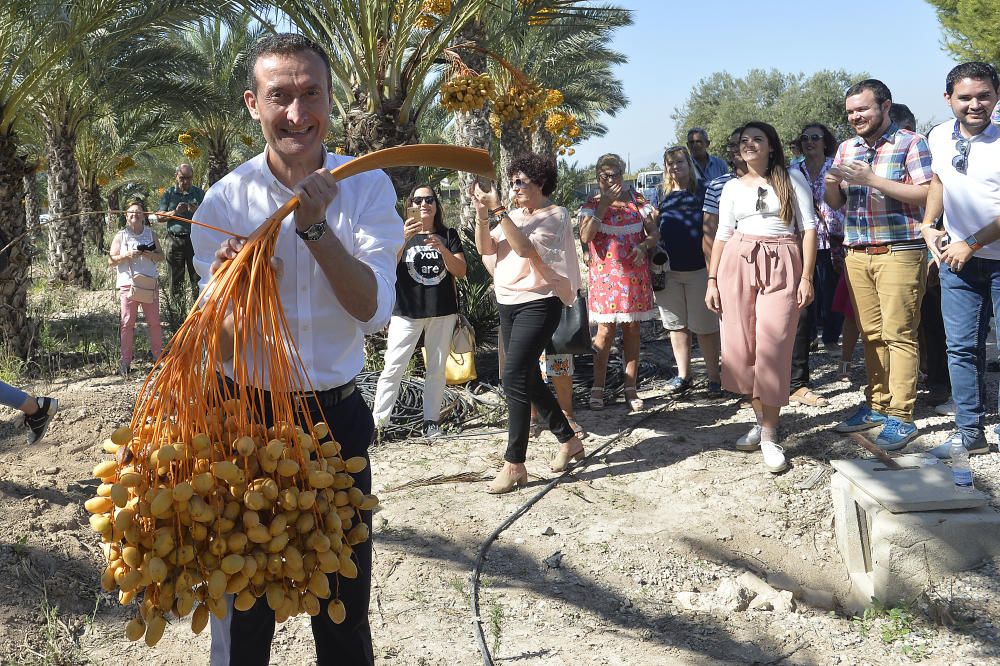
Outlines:
[[[873,149],[861,137],[840,144],[834,166],[851,160],[868,162],[877,175],[901,183],[923,185],[933,176],[927,140],[920,134],[900,129],[895,123],[889,125]],[[922,209],[887,197],[878,188],[848,186],[845,209],[845,245],[921,239]]]

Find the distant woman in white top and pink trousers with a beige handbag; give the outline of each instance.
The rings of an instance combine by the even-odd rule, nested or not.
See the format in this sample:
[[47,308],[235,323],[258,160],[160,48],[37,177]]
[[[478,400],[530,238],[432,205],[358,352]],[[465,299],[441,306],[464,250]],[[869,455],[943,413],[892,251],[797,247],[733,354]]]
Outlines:
[[156,264],[163,261],[163,249],[152,228],[146,226],[146,203],[140,198],[129,201],[125,209],[125,228],[115,234],[111,241],[108,265],[118,271],[115,286],[121,301],[121,325],[119,336],[122,358],[118,364],[118,374],[128,376],[135,352],[135,320],[142,307],[142,315],[149,326],[149,349],[156,358],[163,351],[163,331],[160,328],[160,293],[154,290],[149,302],[134,298],[132,284],[136,275],[153,280],[158,279]]

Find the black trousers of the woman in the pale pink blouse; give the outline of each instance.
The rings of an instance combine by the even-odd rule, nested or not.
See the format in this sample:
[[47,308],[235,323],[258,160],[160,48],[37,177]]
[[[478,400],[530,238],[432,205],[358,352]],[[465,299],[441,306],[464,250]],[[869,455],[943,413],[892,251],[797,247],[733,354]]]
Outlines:
[[574,436],[552,389],[542,381],[542,371],[538,367],[538,357],[559,325],[563,306],[562,301],[551,296],[498,307],[505,353],[503,390],[509,413],[504,460],[523,463],[528,455],[532,405],[538,414],[538,422],[548,424],[549,430],[560,442],[569,441]]

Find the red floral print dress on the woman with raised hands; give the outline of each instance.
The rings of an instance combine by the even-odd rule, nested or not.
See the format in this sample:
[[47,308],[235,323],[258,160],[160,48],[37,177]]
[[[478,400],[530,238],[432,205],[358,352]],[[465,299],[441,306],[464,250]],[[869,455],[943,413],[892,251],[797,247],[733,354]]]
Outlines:
[[[584,204],[581,217],[593,217],[597,197]],[[659,316],[653,305],[649,259],[636,264],[630,255],[646,239],[643,219],[652,208],[639,195],[624,206],[611,206],[601,227],[588,244],[590,278],[587,309],[590,321],[617,323],[645,321]]]

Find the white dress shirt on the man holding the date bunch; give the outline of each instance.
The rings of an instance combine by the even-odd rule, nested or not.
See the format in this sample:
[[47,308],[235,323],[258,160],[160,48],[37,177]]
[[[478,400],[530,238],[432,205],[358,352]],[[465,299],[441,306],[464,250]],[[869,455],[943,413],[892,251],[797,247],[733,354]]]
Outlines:
[[[205,194],[194,220],[240,236],[249,236],[293,192],[271,172],[265,153],[244,162]],[[327,153],[326,168],[353,158]],[[364,336],[389,321],[395,299],[396,253],[403,246],[403,222],[396,212],[396,194],[382,171],[367,171],[338,183],[338,192],[326,209],[327,233],[375,273],[378,307],[368,321],[359,321],[343,308],[305,241],[295,233],[293,215],[281,223],[275,256],[284,262],[278,285],[292,338],[316,390],[336,388],[353,379],[364,366]],[[223,234],[192,225],[194,265],[204,292],[211,278],[215,252]],[[231,376],[232,364],[226,364]],[[266,368],[263,386],[269,388]]]

